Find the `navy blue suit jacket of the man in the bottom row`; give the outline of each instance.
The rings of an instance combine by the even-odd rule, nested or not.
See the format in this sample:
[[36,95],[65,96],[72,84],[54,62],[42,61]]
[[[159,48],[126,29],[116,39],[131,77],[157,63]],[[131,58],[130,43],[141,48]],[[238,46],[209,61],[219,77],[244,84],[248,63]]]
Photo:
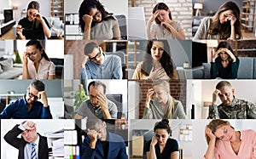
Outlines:
[[108,156],[104,156],[104,150],[102,149],[102,142],[96,141],[96,148],[90,148],[90,138],[86,137],[82,145],[81,159],[127,159],[125,141],[124,139],[114,133],[109,134]]

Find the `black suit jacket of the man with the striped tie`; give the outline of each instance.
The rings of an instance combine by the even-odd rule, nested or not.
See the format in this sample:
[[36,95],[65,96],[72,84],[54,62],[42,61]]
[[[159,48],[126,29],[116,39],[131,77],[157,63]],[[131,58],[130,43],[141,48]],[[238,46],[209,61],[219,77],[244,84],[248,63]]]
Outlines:
[[[27,142],[23,138],[17,138],[17,136],[23,132],[18,127],[19,125],[16,125],[13,129],[11,129],[8,133],[6,133],[4,135],[4,139],[9,145],[12,145],[19,150],[18,159],[24,159],[24,148]],[[38,159],[49,159],[47,138],[44,136],[41,136],[39,133],[38,135],[39,135]]]

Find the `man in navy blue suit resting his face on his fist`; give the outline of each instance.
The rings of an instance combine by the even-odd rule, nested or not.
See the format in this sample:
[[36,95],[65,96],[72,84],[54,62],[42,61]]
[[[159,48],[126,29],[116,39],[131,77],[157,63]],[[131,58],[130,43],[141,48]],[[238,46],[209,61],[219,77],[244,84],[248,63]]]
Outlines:
[[124,139],[108,132],[106,122],[101,119],[89,119],[86,128],[88,136],[82,144],[81,158],[128,158]]

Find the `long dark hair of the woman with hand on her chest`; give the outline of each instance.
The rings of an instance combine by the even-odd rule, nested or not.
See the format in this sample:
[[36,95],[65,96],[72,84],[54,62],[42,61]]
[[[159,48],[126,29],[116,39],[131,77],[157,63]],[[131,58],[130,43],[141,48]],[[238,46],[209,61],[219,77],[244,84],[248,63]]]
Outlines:
[[172,65],[172,59],[171,59],[171,50],[169,48],[169,43],[166,40],[152,40],[148,41],[146,53],[143,58],[143,65],[142,65],[142,73],[146,76],[149,75],[150,71],[152,70],[153,66],[153,59],[151,56],[151,48],[155,41],[159,41],[164,43],[164,53],[162,54],[162,57],[160,59],[160,64],[166,71],[166,74],[168,77],[173,79],[174,75],[174,68]]

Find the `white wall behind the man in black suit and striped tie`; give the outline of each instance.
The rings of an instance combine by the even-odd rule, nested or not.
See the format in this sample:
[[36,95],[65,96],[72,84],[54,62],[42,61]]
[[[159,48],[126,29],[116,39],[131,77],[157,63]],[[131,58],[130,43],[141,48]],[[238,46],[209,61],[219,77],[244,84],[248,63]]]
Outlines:
[[[17,158],[18,152],[16,148],[9,145],[3,139],[5,133],[7,133],[11,128],[14,128],[16,124],[20,124],[25,120],[1,120],[1,158]],[[41,135],[45,136],[46,133],[53,132],[55,130],[59,130],[64,128],[64,120],[32,120],[37,124],[37,132]],[[50,123],[50,124],[49,124]]]

